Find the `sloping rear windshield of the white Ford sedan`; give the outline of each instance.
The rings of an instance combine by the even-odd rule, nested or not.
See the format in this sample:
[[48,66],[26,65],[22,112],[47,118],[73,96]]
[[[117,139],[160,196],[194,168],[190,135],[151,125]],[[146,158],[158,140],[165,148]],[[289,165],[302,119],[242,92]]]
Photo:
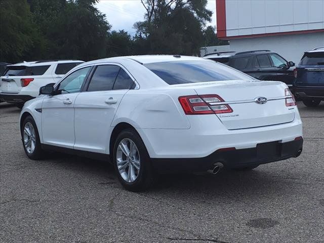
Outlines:
[[144,64],[169,85],[248,79],[244,73],[211,61],[173,61]]

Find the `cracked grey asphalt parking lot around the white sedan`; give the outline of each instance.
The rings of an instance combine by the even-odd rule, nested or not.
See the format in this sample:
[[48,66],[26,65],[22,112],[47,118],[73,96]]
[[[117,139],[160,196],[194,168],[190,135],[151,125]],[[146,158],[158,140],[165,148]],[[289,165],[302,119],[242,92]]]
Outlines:
[[324,242],[324,102],[299,103],[304,150],[249,172],[171,175],[134,193],[106,163],[34,161],[0,104],[1,242]]

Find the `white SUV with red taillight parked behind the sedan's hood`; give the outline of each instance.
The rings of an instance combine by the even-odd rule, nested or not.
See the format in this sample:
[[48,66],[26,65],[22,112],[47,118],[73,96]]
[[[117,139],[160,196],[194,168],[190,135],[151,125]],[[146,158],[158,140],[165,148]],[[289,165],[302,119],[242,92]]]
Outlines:
[[65,73],[84,61],[44,60],[8,65],[0,79],[0,100],[22,108],[38,96],[39,88],[57,83]]

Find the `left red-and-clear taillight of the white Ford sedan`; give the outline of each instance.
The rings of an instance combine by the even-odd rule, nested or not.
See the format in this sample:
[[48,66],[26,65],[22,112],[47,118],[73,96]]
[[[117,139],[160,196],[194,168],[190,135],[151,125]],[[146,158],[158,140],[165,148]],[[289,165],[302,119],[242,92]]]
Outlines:
[[233,112],[227,104],[215,104],[224,102],[218,95],[190,95],[179,97],[179,102],[187,115],[219,114]]

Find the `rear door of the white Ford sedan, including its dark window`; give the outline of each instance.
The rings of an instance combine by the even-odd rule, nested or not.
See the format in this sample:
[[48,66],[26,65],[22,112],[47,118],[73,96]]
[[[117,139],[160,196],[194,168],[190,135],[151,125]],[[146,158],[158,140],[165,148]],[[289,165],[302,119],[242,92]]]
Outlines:
[[86,91],[75,100],[74,149],[109,153],[110,125],[121,99],[133,85],[130,73],[120,65],[96,66]]

